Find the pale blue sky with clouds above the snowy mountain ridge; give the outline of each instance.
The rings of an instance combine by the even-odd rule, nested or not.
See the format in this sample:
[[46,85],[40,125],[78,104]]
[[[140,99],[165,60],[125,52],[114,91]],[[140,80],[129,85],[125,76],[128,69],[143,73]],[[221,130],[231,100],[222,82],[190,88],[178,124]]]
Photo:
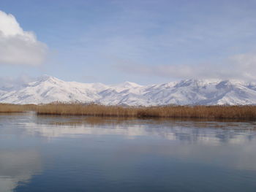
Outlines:
[[256,81],[255,0],[0,0],[0,80]]

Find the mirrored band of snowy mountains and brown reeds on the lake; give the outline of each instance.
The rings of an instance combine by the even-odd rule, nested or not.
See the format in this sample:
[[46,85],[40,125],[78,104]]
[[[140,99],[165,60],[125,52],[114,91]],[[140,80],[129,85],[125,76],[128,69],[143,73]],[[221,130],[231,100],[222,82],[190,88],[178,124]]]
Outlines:
[[[132,118],[85,118],[39,116],[24,123],[27,134],[41,137],[83,137],[83,134],[118,134],[128,139],[162,137],[188,143],[220,145],[255,139],[254,122],[211,122],[195,120],[138,120]],[[33,128],[31,128],[33,127]]]

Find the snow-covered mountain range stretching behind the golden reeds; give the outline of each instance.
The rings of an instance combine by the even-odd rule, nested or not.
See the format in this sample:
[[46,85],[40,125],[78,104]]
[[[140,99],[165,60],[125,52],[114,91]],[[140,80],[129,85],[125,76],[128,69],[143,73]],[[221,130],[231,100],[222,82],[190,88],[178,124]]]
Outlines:
[[0,88],[1,103],[46,104],[53,101],[80,101],[134,106],[256,104],[256,83],[236,80],[181,80],[145,86],[134,82],[104,85],[64,82],[45,75],[26,85],[13,85],[13,88],[10,91]]

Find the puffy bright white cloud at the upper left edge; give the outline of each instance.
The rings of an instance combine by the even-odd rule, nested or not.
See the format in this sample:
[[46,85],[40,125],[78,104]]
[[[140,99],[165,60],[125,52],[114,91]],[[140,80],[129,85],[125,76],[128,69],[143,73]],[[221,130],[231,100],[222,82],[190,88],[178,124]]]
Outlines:
[[45,61],[47,46],[31,31],[23,31],[13,15],[0,11],[0,64],[37,66]]

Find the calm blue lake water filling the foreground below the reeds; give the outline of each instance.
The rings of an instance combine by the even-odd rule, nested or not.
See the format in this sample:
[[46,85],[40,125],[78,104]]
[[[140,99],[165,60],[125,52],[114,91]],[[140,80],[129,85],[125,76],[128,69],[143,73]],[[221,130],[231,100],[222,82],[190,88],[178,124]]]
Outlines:
[[256,191],[256,124],[2,114],[0,191]]

